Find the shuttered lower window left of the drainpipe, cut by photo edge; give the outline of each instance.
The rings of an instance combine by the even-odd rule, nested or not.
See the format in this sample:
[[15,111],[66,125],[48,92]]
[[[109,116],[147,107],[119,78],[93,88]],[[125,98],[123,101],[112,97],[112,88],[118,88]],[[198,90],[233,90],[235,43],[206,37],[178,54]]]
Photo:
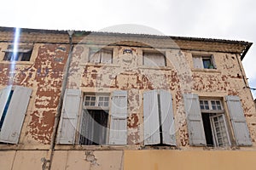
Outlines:
[[31,93],[20,86],[0,90],[0,142],[18,144]]

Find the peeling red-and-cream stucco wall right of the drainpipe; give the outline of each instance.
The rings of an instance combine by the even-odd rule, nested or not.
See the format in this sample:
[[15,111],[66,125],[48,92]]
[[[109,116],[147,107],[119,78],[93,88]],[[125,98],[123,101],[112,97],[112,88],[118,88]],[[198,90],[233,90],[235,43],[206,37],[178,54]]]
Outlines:
[[[245,88],[247,82],[243,79],[241,61],[236,54],[161,48],[166,53],[166,67],[149,67],[143,65],[143,50],[148,48],[109,46],[113,48],[113,64],[92,64],[87,62],[90,47],[83,44],[74,47],[67,88],[80,88],[85,93],[127,90],[128,144],[143,145],[143,92],[166,89],[172,93],[177,147],[189,146],[182,97],[183,93],[189,92],[222,99],[226,111],[224,96],[238,95],[254,143],[251,149],[254,148],[255,108],[250,90]],[[131,49],[132,54],[123,54],[124,49]],[[194,69],[192,54],[212,54],[217,69]]]

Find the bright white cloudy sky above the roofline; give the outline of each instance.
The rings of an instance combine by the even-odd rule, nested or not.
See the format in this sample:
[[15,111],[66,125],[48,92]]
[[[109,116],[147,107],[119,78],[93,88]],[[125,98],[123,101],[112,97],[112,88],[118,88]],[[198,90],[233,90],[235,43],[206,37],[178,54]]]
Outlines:
[[[167,36],[256,43],[254,0],[8,0],[1,7],[0,26],[102,31],[130,24]],[[256,88],[255,55],[253,44],[242,61],[251,88]]]

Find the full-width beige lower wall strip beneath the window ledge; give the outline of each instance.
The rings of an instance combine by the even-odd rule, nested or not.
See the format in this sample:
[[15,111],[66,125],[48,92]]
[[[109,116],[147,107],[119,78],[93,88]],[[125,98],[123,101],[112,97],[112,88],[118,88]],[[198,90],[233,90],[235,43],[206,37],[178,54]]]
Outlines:
[[[0,169],[44,169],[48,152],[1,150]],[[238,170],[255,169],[256,151],[241,150],[55,150],[51,170]]]

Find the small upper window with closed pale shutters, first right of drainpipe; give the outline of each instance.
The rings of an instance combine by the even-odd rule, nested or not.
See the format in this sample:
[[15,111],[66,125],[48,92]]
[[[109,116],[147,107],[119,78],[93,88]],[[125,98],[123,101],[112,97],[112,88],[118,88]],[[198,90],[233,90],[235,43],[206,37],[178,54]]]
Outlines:
[[112,48],[90,48],[89,62],[91,63],[112,63]]

